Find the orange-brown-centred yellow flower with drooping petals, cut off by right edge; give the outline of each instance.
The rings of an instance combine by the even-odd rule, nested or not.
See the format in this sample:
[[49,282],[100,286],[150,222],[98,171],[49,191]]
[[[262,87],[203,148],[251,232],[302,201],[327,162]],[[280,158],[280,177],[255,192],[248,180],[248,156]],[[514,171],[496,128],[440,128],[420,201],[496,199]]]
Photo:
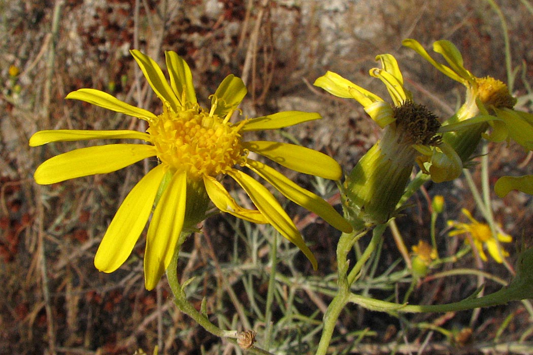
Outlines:
[[[441,129],[447,132],[443,135],[443,141],[453,146],[463,161],[470,159],[481,137],[493,142],[512,139],[526,150],[533,150],[533,114],[513,109],[516,98],[502,81],[472,75],[463,65],[461,52],[447,40],[433,43],[433,51],[440,53],[449,67],[435,61],[416,40],[405,39],[402,43],[466,87],[465,103],[453,117],[443,123]],[[492,132],[486,134],[489,126]],[[533,194],[533,176],[505,176],[495,186],[496,194],[500,197],[512,189]]]

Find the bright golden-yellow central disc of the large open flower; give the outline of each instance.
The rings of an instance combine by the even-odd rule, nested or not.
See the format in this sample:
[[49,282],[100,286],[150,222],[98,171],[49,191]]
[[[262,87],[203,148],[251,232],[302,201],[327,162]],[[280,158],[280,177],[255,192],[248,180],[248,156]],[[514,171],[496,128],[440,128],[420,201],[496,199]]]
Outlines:
[[164,108],[147,132],[157,157],[188,177],[225,174],[246,162],[247,151],[240,143],[239,126],[231,126],[217,115],[199,108],[173,112]]

